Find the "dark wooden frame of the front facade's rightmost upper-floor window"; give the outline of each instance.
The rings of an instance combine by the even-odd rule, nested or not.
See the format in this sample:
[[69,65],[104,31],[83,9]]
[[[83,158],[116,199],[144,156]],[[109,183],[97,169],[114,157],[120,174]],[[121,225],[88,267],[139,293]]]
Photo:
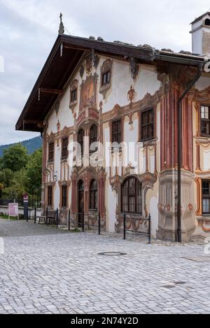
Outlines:
[[[148,116],[153,113],[153,121],[148,122]],[[144,115],[147,115],[147,122],[144,124]],[[153,130],[153,134],[149,134],[149,128]],[[144,136],[144,129],[146,129],[146,137]],[[147,108],[141,112],[141,142],[153,140],[155,138],[155,109]]]

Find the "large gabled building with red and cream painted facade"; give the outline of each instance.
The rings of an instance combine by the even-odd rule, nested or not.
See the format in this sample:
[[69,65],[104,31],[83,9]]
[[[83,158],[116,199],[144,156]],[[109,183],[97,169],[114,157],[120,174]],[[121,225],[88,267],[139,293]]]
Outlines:
[[[192,23],[193,52],[59,36],[16,129],[43,135],[42,206],[123,213],[157,238],[210,236],[210,13]],[[80,220],[80,215],[76,218]],[[133,220],[135,219],[135,220]]]

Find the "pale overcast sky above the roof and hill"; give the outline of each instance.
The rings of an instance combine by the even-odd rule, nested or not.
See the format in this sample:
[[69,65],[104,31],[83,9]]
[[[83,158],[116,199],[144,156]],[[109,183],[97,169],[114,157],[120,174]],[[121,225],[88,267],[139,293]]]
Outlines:
[[[0,0],[0,145],[37,136],[15,123],[57,38],[59,13],[74,36],[191,50],[190,22],[207,0]],[[0,59],[1,63],[1,59]]]

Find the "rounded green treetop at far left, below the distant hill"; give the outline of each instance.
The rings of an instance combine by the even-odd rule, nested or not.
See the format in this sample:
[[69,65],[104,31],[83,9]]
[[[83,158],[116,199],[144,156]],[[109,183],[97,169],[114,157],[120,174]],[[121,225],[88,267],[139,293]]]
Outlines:
[[20,171],[27,166],[29,155],[27,148],[21,143],[12,145],[3,150],[3,157],[1,159],[1,166],[3,169],[10,169],[13,172]]

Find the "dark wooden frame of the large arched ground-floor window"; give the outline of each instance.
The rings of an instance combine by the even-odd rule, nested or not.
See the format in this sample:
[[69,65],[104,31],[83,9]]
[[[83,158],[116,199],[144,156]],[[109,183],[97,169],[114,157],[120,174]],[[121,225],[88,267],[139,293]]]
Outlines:
[[[134,193],[130,193],[129,189],[130,189],[130,181],[131,180],[134,180]],[[127,187],[127,194],[123,195],[123,192],[124,192],[124,188],[126,188],[126,185],[128,183],[128,187]],[[139,187],[139,192],[137,192],[137,188]],[[127,197],[127,211],[125,211],[125,207],[126,204],[123,202],[123,196]],[[137,206],[138,206],[138,202],[137,202],[137,197],[140,197],[139,200],[140,200],[140,203],[139,203],[139,206],[141,207],[140,208],[140,211],[137,211]],[[134,207],[135,207],[135,211],[132,212],[130,211],[130,207],[132,206],[130,204],[130,199],[131,198],[134,198]],[[139,180],[135,177],[135,176],[130,176],[129,178],[125,179],[125,181],[123,181],[123,185],[121,186],[121,211],[122,213],[127,213],[127,214],[139,214],[139,215],[142,215],[142,185],[141,183],[139,182]]]

